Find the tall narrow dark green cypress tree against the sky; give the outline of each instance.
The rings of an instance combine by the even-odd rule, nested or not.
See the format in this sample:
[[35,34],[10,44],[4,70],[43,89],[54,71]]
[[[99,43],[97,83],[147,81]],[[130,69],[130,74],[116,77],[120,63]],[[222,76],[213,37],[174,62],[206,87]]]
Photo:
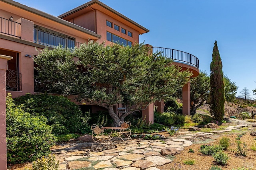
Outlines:
[[221,123],[224,116],[224,83],[222,72],[222,61],[217,46],[214,43],[212,51],[212,63],[210,64],[210,111],[214,115],[216,121]]

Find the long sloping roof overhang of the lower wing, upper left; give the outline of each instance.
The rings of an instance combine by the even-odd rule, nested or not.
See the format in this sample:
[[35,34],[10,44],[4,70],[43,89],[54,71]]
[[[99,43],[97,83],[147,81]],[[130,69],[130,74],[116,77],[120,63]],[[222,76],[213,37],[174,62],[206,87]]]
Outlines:
[[80,27],[56,16],[52,16],[35,8],[30,8],[13,0],[1,0],[0,9],[10,11],[12,14],[22,16],[27,20],[38,21],[44,25],[50,25],[59,30],[65,30],[73,35],[77,35],[84,39],[100,39],[101,35],[96,34],[93,31]]

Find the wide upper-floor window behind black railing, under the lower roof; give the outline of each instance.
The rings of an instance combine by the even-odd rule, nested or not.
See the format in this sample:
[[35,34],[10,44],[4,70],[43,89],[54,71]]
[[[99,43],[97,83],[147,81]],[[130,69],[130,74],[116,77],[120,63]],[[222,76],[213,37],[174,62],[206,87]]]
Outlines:
[[75,39],[67,35],[34,25],[34,43],[47,45],[50,47],[58,46],[74,48]]

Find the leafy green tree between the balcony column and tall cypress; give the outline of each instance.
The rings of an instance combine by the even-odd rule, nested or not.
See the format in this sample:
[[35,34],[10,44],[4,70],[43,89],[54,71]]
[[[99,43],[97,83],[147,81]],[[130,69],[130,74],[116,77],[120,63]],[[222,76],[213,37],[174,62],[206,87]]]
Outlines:
[[196,109],[202,106],[208,100],[210,93],[210,78],[208,74],[203,71],[190,81],[190,100],[191,100],[191,115],[196,113]]

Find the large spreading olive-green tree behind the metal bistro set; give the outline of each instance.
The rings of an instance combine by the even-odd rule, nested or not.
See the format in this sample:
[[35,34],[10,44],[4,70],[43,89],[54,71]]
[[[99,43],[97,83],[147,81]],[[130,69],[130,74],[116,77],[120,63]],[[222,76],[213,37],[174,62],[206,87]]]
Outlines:
[[[89,42],[73,50],[44,49],[34,60],[38,80],[46,82],[49,92],[77,94],[78,100],[105,107],[116,124],[156,100],[171,98],[191,76],[143,44]],[[118,103],[128,111],[120,117],[114,113]]]

